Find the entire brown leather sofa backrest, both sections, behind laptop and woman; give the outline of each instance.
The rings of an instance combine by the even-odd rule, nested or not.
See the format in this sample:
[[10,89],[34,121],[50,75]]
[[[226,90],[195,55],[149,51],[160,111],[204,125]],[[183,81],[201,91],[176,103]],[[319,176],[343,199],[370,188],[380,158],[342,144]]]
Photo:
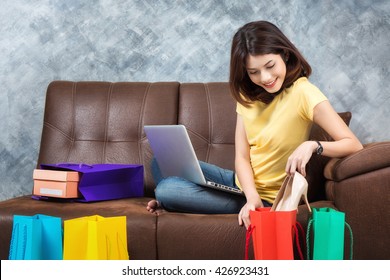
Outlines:
[[[143,164],[153,196],[153,153],[143,126],[183,124],[200,160],[234,169],[236,103],[227,82],[71,82],[47,89],[38,166],[42,163]],[[350,113],[342,114],[349,123]],[[311,139],[327,134],[314,126]],[[308,166],[309,200],[325,198],[325,157]]]

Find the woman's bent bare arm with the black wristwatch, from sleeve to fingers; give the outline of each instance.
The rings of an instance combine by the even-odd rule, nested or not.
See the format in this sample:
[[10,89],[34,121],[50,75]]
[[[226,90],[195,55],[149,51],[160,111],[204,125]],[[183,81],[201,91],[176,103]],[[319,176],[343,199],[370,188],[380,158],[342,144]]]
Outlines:
[[[324,129],[334,141],[321,141],[322,155],[328,157],[345,157],[363,148],[359,139],[345,124],[329,101],[323,101],[314,107],[313,121]],[[318,147],[315,141],[306,141],[290,155],[286,165],[286,173],[295,171],[306,176],[306,164]]]

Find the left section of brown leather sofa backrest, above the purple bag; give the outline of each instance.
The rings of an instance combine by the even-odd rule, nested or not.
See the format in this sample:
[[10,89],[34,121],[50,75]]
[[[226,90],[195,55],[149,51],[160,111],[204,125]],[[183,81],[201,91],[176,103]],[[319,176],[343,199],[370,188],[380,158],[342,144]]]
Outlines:
[[176,124],[179,83],[54,81],[47,89],[38,166],[122,163],[145,166],[153,195],[144,124]]

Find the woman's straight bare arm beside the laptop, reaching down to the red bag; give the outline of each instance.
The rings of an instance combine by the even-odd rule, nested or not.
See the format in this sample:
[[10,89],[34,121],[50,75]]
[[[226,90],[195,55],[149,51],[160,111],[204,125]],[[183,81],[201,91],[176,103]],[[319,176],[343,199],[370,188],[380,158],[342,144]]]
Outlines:
[[249,211],[263,207],[263,203],[256,190],[252,166],[250,164],[249,143],[246,137],[244,122],[240,115],[237,115],[236,123],[235,170],[247,200],[247,203],[238,214],[238,223],[240,225],[244,224],[248,228],[250,225]]

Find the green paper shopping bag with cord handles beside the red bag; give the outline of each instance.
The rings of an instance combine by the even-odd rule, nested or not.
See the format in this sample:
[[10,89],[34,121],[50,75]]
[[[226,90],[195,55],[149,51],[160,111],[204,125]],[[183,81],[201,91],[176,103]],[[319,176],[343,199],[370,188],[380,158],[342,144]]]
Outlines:
[[[350,259],[352,259],[353,235],[350,225],[345,222],[345,213],[327,207],[312,208],[312,210],[306,232],[307,259],[343,260],[345,227],[351,235]],[[313,247],[312,257],[310,257],[310,244]]]

